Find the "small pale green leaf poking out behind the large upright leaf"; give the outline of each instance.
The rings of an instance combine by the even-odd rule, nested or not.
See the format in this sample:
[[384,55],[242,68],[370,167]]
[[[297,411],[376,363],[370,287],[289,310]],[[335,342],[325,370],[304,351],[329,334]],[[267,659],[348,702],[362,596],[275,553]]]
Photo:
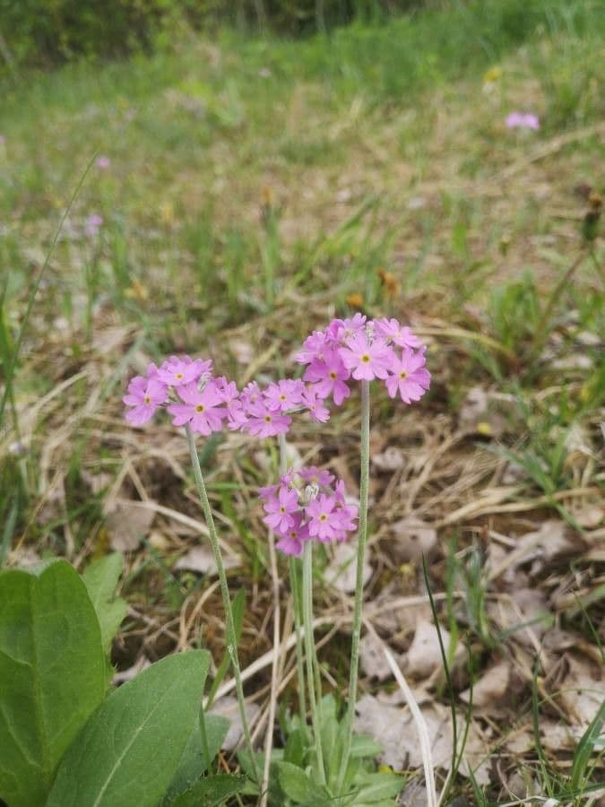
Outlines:
[[121,597],[115,596],[117,582],[123,567],[122,555],[119,552],[113,552],[105,558],[94,560],[82,574],[82,579],[97,612],[103,649],[106,653],[109,652],[111,640],[116,636],[117,629],[122,624],[128,610],[128,603]]

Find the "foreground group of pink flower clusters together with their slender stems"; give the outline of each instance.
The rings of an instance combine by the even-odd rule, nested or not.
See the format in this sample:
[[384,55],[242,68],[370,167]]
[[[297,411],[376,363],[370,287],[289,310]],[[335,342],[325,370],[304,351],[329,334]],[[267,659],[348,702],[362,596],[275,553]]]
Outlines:
[[[361,314],[350,319],[333,319],[323,330],[314,331],[307,337],[296,359],[304,367],[301,378],[282,379],[264,388],[252,381],[239,391],[227,378],[212,374],[212,360],[172,356],[160,367],[150,364],[144,376],[132,378],[123,400],[127,407],[125,418],[134,426],[143,426],[155,412],[164,408],[174,426],[184,426],[186,429],[195,484],[219,569],[229,657],[253,768],[255,754],[246,720],[227,577],[194,435],[208,437],[213,432],[228,429],[239,430],[256,438],[279,437],[279,482],[261,488],[259,499],[264,509],[264,524],[279,539],[275,547],[289,557],[297,631],[301,717],[305,725],[307,701],[303,678],[306,678],[320,782],[325,781],[324,752],[327,750],[321,745],[321,681],[313,636],[313,547],[315,542],[342,542],[348,540],[351,534],[358,533],[349,703],[344,722],[344,749],[338,783],[340,794],[350,762],[357,698],[363,607],[362,571],[367,546],[370,383],[377,380],[384,384],[391,398],[399,396],[403,403],[412,404],[425,395],[430,386],[430,374],[426,367],[425,347],[409,327],[402,326],[396,319],[368,320]],[[361,388],[359,508],[357,503],[347,499],[344,482],[336,480],[332,473],[315,466],[288,469],[285,459],[285,436],[294,417],[307,412],[315,422],[328,421],[331,405],[341,406],[350,397],[352,386],[357,381]],[[273,541],[272,537],[270,541]],[[266,768],[265,764],[264,778]],[[260,783],[260,779],[256,778]]]

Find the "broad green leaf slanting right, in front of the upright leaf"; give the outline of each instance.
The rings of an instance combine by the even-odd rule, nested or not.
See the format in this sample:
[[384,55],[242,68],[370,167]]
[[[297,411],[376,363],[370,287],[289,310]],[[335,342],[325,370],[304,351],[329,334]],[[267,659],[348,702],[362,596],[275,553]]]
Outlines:
[[154,807],[197,723],[210,655],[170,655],[113,692],[56,774],[47,807]]

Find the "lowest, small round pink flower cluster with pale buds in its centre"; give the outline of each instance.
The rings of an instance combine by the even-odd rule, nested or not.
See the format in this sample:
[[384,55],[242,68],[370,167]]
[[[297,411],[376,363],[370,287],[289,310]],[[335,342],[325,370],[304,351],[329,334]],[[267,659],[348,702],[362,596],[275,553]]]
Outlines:
[[347,504],[344,482],[333,482],[332,473],[312,465],[259,490],[263,520],[279,536],[279,550],[298,558],[305,541],[346,541],[357,529],[357,506]]

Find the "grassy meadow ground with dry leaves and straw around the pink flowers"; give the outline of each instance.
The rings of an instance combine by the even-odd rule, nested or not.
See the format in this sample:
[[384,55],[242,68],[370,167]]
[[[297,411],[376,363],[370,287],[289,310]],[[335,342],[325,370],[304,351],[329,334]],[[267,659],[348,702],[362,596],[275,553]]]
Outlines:
[[[238,385],[284,377],[331,317],[398,317],[428,342],[433,384],[413,407],[374,398],[368,619],[422,704],[441,784],[452,703],[459,738],[468,725],[445,803],[598,799],[604,289],[586,216],[602,192],[603,33],[588,0],[459,6],[302,41],[180,30],[155,56],[6,82],[0,561],[83,568],[124,551],[118,670],[200,645],[218,663],[186,442],[125,424],[126,379],[181,351]],[[516,110],[540,130],[507,128]],[[350,404],[325,427],[297,422],[290,446],[354,492],[358,432]],[[231,435],[202,459],[230,586],[246,589],[247,668],[271,649],[256,490],[275,450]],[[331,551],[321,567],[320,662],[339,694],[350,586]],[[400,721],[382,761],[421,804],[413,729],[372,651],[359,725]],[[253,672],[262,734],[270,669]],[[290,681],[284,710],[295,694]]]

